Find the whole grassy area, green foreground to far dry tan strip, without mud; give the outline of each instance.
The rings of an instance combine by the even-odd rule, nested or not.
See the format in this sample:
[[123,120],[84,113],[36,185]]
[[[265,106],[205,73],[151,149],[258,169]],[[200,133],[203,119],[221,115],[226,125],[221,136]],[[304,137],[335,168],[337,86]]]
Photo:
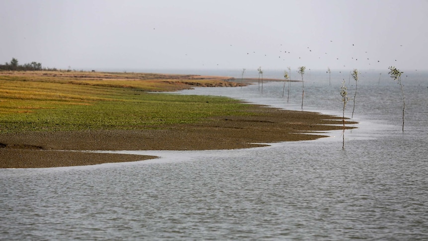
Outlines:
[[189,75],[0,72],[0,133],[148,129],[251,115],[230,98],[153,92],[235,84]]

